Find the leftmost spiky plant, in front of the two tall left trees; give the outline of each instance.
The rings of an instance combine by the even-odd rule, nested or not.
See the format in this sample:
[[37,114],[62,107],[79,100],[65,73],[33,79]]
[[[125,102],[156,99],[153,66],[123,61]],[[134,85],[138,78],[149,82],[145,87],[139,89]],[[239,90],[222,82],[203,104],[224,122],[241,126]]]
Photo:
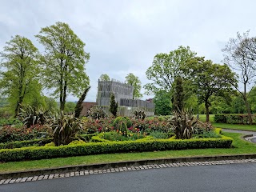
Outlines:
[[22,123],[26,127],[34,126],[36,124],[44,125],[49,117],[50,112],[32,106],[22,106],[21,113],[18,114]]

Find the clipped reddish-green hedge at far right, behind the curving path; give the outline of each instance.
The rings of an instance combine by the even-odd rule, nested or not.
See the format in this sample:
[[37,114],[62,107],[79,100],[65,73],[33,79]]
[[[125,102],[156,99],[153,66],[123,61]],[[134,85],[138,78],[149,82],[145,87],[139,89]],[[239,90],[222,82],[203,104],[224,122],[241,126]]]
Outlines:
[[[252,114],[253,122],[256,122],[256,115]],[[248,114],[215,114],[214,122],[230,124],[249,124]]]

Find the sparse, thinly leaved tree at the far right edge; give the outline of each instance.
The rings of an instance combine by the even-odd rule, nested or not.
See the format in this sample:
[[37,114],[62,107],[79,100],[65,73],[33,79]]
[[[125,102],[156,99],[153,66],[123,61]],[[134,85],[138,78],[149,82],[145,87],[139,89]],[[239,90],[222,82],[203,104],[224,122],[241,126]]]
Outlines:
[[[237,38],[230,38],[222,51],[224,54],[224,62],[228,64],[232,69],[239,71],[238,81],[242,83],[243,90],[239,90],[238,86],[234,86],[240,94],[246,104],[246,110],[249,117],[250,125],[252,124],[250,104],[248,102],[247,90],[251,83],[254,83],[256,77],[256,66],[254,58],[254,48],[250,46],[255,46],[250,44],[250,38],[248,37],[249,32],[244,34],[237,34]],[[255,41],[256,42],[256,41]],[[256,47],[256,46],[255,46]],[[251,49],[250,49],[251,48]],[[256,50],[256,48],[255,48]],[[256,55],[256,54],[255,54]],[[254,60],[255,59],[255,60]]]

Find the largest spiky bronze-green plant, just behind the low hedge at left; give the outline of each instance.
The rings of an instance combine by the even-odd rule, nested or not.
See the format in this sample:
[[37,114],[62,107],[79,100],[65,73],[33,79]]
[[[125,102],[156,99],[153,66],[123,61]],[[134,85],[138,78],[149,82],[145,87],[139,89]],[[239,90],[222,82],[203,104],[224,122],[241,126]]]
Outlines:
[[82,121],[74,117],[74,114],[54,117],[50,125],[53,129],[55,146],[67,145],[74,141],[78,131],[82,130]]

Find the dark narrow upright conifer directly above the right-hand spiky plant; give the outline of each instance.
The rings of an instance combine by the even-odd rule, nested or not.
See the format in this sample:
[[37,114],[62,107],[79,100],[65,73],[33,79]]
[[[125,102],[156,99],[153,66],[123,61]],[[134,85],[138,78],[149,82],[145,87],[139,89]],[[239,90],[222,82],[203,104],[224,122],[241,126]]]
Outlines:
[[174,84],[173,110],[181,111],[184,106],[182,78],[180,76],[177,76],[174,81],[175,81],[175,84]]

